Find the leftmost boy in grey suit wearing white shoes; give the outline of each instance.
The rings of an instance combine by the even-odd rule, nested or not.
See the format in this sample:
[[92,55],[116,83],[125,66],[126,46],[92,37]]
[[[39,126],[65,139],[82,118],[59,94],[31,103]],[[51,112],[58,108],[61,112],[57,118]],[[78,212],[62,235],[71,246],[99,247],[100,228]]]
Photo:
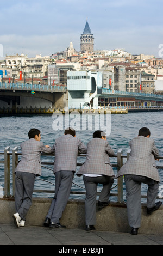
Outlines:
[[41,175],[41,152],[51,153],[51,147],[43,145],[38,129],[28,132],[29,140],[21,143],[22,158],[15,169],[16,227],[24,226],[27,212],[32,205],[35,177]]

